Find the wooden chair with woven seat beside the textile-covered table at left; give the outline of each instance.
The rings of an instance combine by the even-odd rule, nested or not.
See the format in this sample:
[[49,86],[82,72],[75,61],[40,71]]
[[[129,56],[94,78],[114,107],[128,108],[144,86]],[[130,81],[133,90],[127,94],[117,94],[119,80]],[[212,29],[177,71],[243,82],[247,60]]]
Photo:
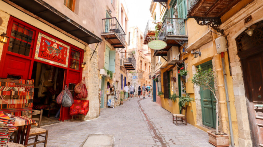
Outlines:
[[[34,143],[27,144],[27,146],[34,145],[36,147],[36,144],[44,143],[44,146],[46,147],[47,144],[47,136],[48,136],[48,130],[40,128],[41,125],[41,119],[42,119],[43,110],[28,110],[28,111],[22,111],[22,116],[24,115],[40,115],[39,118],[32,118],[35,121],[38,121],[37,128],[31,128],[29,132],[28,140],[35,139]],[[42,134],[46,134],[43,136]],[[34,136],[33,138],[30,138]],[[44,137],[45,140],[38,140],[38,136]],[[26,135],[24,136],[26,138]]]

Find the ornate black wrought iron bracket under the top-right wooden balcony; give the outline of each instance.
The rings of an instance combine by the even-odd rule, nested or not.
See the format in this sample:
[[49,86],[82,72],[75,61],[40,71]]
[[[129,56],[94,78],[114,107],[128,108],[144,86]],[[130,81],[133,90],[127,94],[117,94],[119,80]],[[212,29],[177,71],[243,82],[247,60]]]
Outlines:
[[221,34],[224,33],[224,30],[219,28],[222,22],[218,17],[194,17],[194,19],[197,21],[198,25],[207,25]]

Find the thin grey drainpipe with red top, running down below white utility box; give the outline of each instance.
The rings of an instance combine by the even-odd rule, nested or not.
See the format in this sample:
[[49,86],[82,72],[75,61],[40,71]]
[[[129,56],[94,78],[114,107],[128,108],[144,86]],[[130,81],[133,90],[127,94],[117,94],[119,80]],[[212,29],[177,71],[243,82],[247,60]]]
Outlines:
[[227,113],[228,113],[228,122],[229,122],[231,146],[234,147],[235,145],[234,145],[234,136],[233,136],[233,129],[232,129],[232,119],[231,119],[229,96],[228,96],[227,81],[226,81],[226,74],[225,74],[224,52],[221,53],[221,58],[222,58],[222,66],[223,66],[223,73],[224,73],[225,96],[226,96],[226,104],[227,104]]

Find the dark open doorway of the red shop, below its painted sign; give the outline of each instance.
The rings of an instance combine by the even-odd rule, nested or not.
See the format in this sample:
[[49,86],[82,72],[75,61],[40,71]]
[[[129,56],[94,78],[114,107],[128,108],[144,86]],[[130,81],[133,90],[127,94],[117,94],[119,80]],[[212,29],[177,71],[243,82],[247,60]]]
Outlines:
[[[56,98],[63,90],[64,75],[65,69],[40,62],[34,62],[33,64],[31,75],[31,79],[35,81],[33,109],[43,110],[43,125],[54,123],[59,119],[61,106],[56,103]],[[69,88],[71,87],[69,85]]]

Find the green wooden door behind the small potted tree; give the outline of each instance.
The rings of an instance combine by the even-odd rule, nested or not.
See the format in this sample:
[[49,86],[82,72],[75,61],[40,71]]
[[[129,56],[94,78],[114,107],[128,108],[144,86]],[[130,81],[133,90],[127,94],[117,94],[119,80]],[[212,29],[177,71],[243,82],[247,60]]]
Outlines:
[[[213,69],[212,61],[200,65],[202,70]],[[211,82],[214,86],[214,82]],[[203,125],[216,127],[216,99],[209,89],[200,88]]]

